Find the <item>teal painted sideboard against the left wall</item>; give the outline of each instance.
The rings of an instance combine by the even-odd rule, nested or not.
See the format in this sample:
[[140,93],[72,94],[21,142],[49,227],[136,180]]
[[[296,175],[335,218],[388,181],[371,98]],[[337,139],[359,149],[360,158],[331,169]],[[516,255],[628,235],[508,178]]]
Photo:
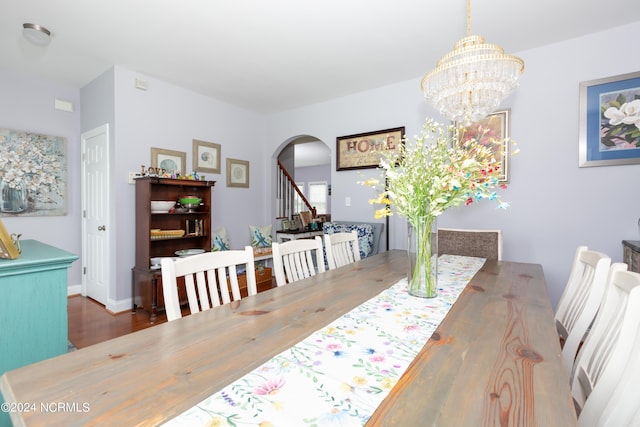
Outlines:
[[67,270],[77,255],[37,240],[0,259],[0,375],[67,352]]

